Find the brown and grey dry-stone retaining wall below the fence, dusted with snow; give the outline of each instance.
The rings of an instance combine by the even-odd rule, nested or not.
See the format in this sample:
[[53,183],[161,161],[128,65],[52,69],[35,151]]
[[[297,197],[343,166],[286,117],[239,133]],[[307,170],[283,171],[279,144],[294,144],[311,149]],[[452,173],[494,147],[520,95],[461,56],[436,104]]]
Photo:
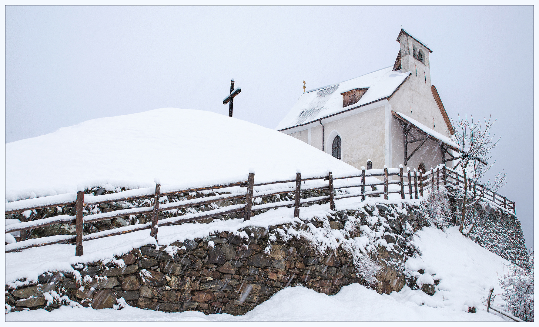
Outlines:
[[[122,267],[115,267],[111,262],[78,264],[73,268],[80,276],[46,273],[33,286],[8,288],[6,303],[15,307],[14,310],[50,310],[60,302],[47,305],[44,293],[54,291],[94,309],[112,308],[116,299],[122,297],[129,305],[143,309],[241,315],[288,286],[303,285],[333,295],[351,283],[369,285],[347,251],[339,248],[323,254],[303,238],[283,238],[278,232],[288,228],[307,231],[307,223],[341,229],[346,235],[360,235],[361,225],[377,231],[378,240],[383,238],[384,245],[377,247],[375,255],[381,269],[374,288],[389,294],[404,285],[404,261],[412,251],[406,245],[411,233],[403,226],[411,222],[416,230],[423,227],[424,212],[421,206],[409,206],[403,211],[394,204],[367,205],[361,210],[340,211],[329,219],[315,218],[295,226],[248,226],[235,233],[177,241],[167,248],[143,246],[116,258],[123,260]],[[347,225],[348,220],[361,224]],[[354,229],[351,232],[350,226]],[[238,232],[250,236],[240,238]],[[392,249],[388,250],[388,246]]]

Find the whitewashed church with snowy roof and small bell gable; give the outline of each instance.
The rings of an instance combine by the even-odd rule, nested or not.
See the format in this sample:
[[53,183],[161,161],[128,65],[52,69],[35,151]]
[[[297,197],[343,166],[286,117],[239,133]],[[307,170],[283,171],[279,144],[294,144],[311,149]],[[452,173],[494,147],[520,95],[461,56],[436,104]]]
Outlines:
[[450,161],[458,148],[431,85],[432,51],[405,30],[397,41],[393,66],[303,93],[276,129],[358,169],[368,159],[423,172]]

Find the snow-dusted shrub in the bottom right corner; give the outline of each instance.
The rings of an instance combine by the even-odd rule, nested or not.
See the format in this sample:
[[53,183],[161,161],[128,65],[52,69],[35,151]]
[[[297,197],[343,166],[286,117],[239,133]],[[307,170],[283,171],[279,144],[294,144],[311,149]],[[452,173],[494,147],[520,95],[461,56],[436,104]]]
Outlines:
[[523,321],[534,321],[534,253],[529,255],[527,267],[515,263],[506,267],[503,278],[499,277],[505,308]]

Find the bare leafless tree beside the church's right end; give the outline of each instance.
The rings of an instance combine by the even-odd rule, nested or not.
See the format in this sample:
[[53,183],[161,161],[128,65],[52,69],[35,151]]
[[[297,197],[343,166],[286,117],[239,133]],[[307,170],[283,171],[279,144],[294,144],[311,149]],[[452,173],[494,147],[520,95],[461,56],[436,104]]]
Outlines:
[[[474,189],[477,184],[480,184],[481,179],[485,177],[485,173],[492,167],[494,162],[490,162],[490,151],[500,141],[494,139],[494,135],[490,135],[490,129],[495,123],[490,122],[490,117],[485,119],[485,124],[480,121],[473,120],[468,121],[468,117],[465,116],[462,119],[459,116],[458,121],[453,121],[455,127],[454,141],[458,144],[461,150],[460,156],[456,157],[459,162],[455,168],[460,168],[462,175],[464,176],[464,190],[457,193],[458,198],[462,199],[461,213],[462,218],[460,221],[459,231],[462,233],[464,227],[464,220],[466,218],[466,210],[473,206],[472,218],[475,217],[475,204],[489,191],[496,191],[506,184],[506,175],[503,173],[497,173],[494,180],[487,180],[482,183],[480,190],[471,192],[468,194],[468,183],[472,183]],[[490,163],[489,163],[490,162]]]

